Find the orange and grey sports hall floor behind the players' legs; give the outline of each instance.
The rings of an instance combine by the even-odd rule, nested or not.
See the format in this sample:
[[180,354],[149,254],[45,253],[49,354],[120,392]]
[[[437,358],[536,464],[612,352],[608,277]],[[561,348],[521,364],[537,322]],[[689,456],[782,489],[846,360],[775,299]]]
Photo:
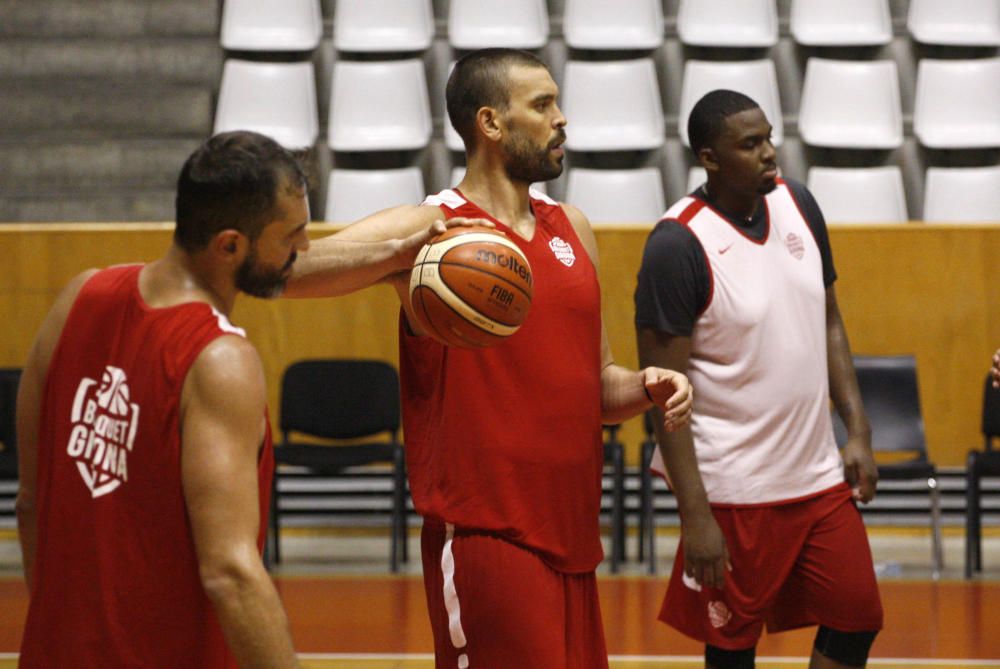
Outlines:
[[[870,666],[1000,669],[1000,533],[987,533],[986,570],[973,581],[962,579],[963,538],[955,528],[946,531],[946,569],[937,581],[930,578],[926,532],[875,528],[870,538],[886,611]],[[661,530],[657,541],[658,576],[634,562],[618,575],[602,566],[612,669],[702,666],[698,644],[655,620],[676,531]],[[275,581],[305,669],[434,666],[419,561],[389,575],[387,539],[370,531],[289,530],[282,546],[285,562],[274,570]],[[416,535],[410,548],[419,554]],[[26,607],[17,543],[6,532],[0,535],[0,669],[17,664]],[[765,636],[757,666],[806,667],[811,640],[811,630]]]

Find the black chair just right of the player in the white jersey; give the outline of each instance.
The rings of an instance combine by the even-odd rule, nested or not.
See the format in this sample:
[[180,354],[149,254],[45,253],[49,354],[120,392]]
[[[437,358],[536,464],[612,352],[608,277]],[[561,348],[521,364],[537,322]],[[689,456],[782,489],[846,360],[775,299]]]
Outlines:
[[[872,427],[875,453],[907,454],[907,460],[878,463],[880,481],[922,480],[930,496],[931,557],[934,578],[944,568],[941,544],[941,494],[937,468],[927,457],[924,419],[917,392],[917,363],[912,355],[856,355],[861,400]],[[837,445],[847,443],[847,429],[833,412]]]

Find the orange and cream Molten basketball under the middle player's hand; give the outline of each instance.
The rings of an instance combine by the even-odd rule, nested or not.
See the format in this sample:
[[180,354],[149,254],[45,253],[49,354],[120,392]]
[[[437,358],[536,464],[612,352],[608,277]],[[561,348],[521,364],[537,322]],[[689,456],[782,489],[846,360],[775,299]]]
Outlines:
[[424,246],[410,275],[421,329],[445,346],[483,348],[511,336],[531,307],[531,266],[517,244],[484,227],[456,227]]

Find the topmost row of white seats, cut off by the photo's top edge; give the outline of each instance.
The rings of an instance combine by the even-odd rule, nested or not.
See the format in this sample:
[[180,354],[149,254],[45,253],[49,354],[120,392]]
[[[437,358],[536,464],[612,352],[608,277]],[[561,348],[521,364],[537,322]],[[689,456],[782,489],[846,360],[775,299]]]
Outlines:
[[[778,41],[776,0],[680,0],[682,43],[770,47]],[[341,51],[421,51],[434,36],[431,0],[337,0],[334,46]],[[450,0],[448,41],[524,49],[549,38],[545,0]],[[661,0],[565,0],[567,44],[575,49],[654,49],[663,41]],[[925,44],[1000,45],[995,0],[910,0],[907,30]],[[889,0],[792,0],[789,28],[808,46],[884,45],[892,39]],[[226,0],[222,46],[231,50],[314,49],[322,35],[319,0]]]

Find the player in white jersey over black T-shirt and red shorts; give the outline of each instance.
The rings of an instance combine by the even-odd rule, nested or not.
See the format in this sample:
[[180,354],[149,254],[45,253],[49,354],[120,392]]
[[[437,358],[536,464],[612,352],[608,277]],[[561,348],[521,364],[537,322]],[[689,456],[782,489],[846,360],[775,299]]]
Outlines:
[[[812,195],[778,177],[771,124],[750,98],[708,93],[688,135],[708,181],[650,234],[635,297],[640,359],[687,370],[698,388],[690,426],[659,434],[693,513],[660,620],[704,642],[715,669],[753,667],[765,622],[819,625],[814,669],[863,667],[882,606],[855,501],[872,499],[877,470],[826,225]],[[728,552],[705,573],[687,544],[716,524]]]

